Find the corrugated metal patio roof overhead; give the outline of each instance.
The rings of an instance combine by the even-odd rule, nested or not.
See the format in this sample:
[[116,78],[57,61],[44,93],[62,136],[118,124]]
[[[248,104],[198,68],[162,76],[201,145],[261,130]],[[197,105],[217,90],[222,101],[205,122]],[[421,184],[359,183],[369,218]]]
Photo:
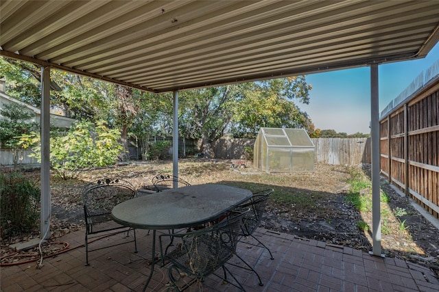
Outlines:
[[151,92],[425,57],[439,1],[1,0],[0,53]]

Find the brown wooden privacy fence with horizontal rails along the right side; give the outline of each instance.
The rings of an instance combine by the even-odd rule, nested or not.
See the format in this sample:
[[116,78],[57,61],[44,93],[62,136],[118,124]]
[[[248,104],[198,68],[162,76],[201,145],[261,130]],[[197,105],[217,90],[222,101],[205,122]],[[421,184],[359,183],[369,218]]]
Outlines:
[[439,218],[439,78],[380,120],[381,172]]

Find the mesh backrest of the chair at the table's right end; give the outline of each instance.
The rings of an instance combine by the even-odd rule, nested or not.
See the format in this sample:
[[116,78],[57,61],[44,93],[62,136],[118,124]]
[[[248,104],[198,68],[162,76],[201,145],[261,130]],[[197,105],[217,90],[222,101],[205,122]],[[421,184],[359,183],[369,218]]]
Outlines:
[[267,206],[268,197],[273,193],[274,189],[264,189],[253,193],[252,198],[241,205],[244,208],[250,208],[250,211],[244,215],[241,235],[252,235],[254,230],[261,224],[262,215]]

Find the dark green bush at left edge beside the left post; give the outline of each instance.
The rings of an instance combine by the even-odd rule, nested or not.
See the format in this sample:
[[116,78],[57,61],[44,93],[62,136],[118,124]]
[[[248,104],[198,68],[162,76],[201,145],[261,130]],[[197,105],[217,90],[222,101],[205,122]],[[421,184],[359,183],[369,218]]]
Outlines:
[[40,189],[19,172],[0,174],[1,236],[34,230],[38,223]]

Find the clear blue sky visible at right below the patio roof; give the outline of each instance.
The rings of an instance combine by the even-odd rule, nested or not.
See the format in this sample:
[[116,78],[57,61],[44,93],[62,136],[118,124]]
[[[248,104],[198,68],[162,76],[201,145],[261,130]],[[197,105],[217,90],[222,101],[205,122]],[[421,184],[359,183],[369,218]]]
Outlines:
[[[378,66],[379,112],[439,59],[439,42],[427,57]],[[370,133],[370,67],[306,75],[309,105],[298,103],[316,129]]]

